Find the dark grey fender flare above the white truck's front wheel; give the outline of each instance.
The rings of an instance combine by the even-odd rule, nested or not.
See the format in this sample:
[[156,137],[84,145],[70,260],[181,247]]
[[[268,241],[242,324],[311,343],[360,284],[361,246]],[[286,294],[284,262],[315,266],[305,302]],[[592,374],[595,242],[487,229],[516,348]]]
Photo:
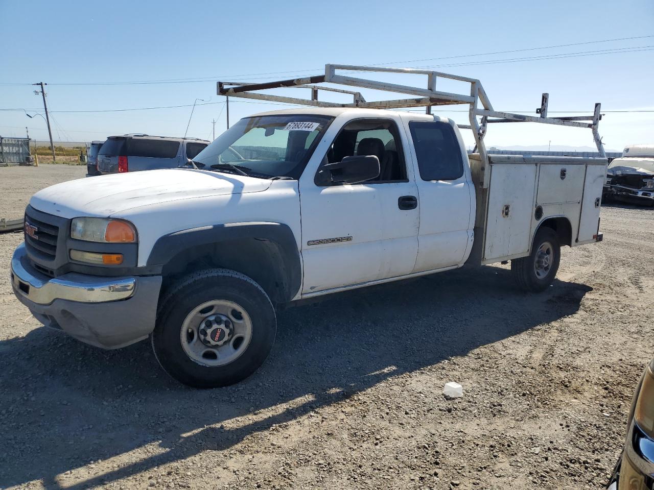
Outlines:
[[284,299],[290,301],[300,291],[302,267],[295,235],[284,223],[250,221],[188,228],[163,235],[152,246],[146,265],[164,266],[184,250],[232,240],[254,238],[274,242],[283,263],[277,272],[284,283]]

